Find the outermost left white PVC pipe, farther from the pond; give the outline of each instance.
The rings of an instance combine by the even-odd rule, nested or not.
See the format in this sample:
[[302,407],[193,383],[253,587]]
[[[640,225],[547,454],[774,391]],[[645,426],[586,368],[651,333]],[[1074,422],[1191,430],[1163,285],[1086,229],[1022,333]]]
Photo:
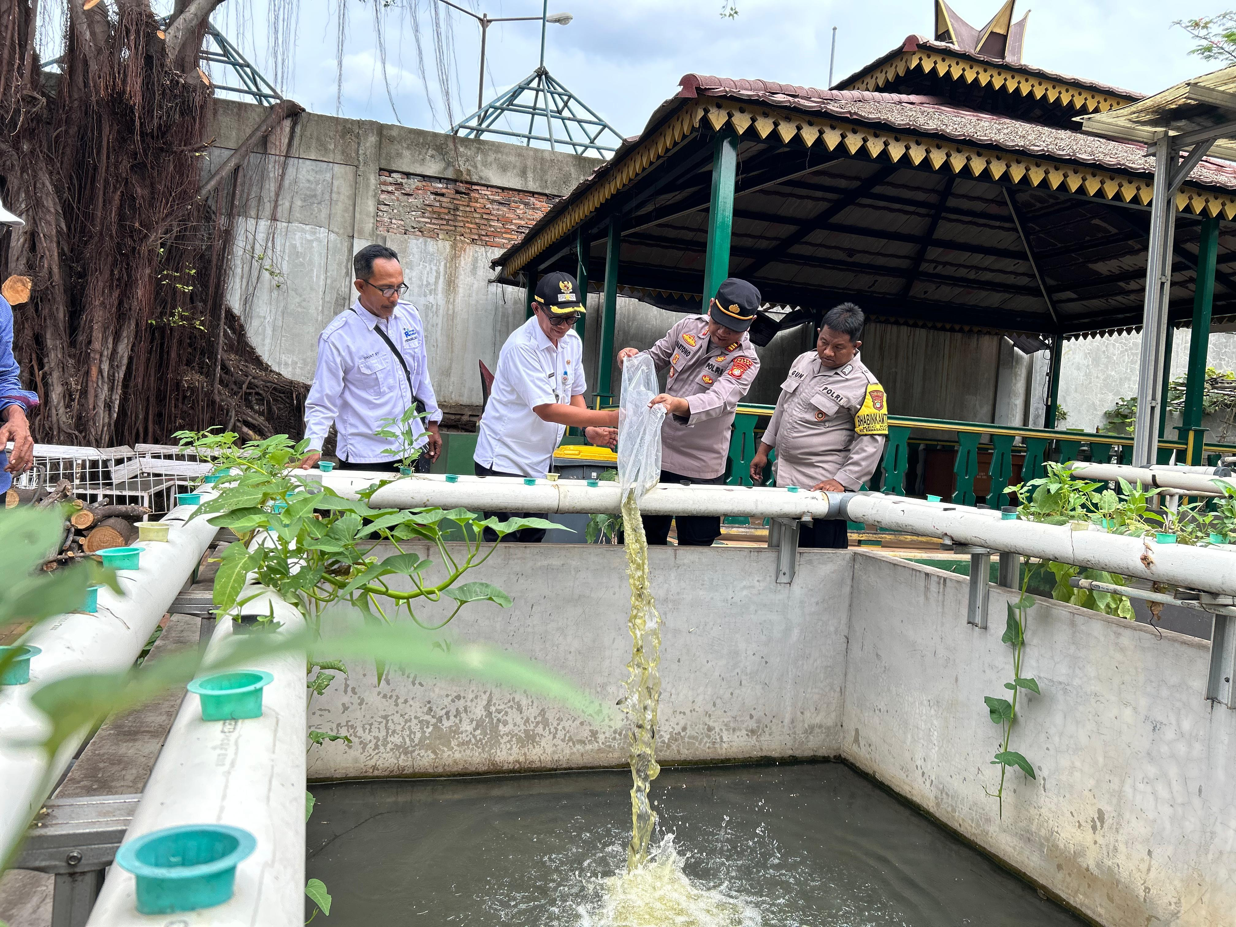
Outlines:
[[[203,493],[203,501],[213,497]],[[133,665],[219,530],[204,518],[185,524],[193,508],[180,506],[163,518],[172,524],[167,541],[136,545],[143,549],[140,569],[119,572],[124,596],[103,587],[96,613],[49,618],[22,638],[22,644],[42,648],[42,653],[30,661],[28,684],[0,688],[0,848],[26,827],[47,797],[41,786],[56,784],[89,733],[66,740],[48,764],[42,750],[28,745],[51,729],[30,696],[52,680]]]

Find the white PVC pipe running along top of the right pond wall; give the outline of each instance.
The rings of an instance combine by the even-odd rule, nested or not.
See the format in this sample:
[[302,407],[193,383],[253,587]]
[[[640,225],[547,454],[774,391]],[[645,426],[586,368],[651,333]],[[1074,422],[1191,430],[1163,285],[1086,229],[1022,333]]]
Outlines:
[[1069,525],[1002,520],[985,512],[897,502],[879,493],[839,497],[844,518],[912,534],[948,536],[958,544],[1077,564],[1121,576],[1236,595],[1236,556],[1211,548],[1158,544],[1101,530],[1075,531]]

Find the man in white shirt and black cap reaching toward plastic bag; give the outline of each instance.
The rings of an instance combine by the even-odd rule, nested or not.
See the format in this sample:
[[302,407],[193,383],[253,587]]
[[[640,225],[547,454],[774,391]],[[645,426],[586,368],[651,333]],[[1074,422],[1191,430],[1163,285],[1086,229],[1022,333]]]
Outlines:
[[[498,355],[472,455],[477,476],[543,478],[567,425],[582,428],[583,436],[596,445],[613,447],[618,441],[618,413],[590,409],[583,399],[583,342],[574,329],[586,307],[575,277],[545,274],[536,284],[533,308],[533,318],[510,334]],[[515,514],[545,518],[541,512]],[[504,518],[497,512],[485,515]],[[496,538],[487,528],[486,540]],[[540,528],[506,536],[525,543],[544,539]]]

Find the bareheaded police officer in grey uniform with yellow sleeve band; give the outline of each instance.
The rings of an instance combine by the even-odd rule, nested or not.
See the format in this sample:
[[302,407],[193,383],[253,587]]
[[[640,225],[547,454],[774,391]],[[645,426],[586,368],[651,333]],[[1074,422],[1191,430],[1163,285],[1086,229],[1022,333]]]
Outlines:
[[[889,434],[889,410],[884,387],[859,358],[863,321],[853,303],[831,309],[816,350],[791,365],[751,460],[756,485],[774,447],[777,486],[853,492],[871,478]],[[849,546],[845,519],[802,524],[798,546]]]

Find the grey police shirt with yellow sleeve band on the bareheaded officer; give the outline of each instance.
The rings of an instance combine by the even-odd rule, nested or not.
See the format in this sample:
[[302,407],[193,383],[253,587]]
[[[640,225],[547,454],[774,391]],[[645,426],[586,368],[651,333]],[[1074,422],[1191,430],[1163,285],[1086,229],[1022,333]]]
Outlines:
[[871,478],[889,433],[884,387],[858,353],[829,370],[798,355],[760,439],[776,447],[776,485],[811,488],[836,480],[858,489]]

